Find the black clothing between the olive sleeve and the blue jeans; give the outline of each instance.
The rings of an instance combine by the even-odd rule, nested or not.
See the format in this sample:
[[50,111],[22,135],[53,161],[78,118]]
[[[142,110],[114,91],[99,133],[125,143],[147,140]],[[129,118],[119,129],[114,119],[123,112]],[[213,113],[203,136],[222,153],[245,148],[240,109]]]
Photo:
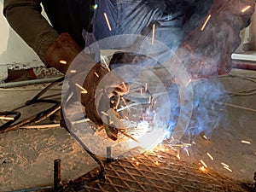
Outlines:
[[61,34],[69,32],[84,48],[83,29],[91,32],[90,19],[93,15],[93,0],[43,0],[44,10],[55,30]]

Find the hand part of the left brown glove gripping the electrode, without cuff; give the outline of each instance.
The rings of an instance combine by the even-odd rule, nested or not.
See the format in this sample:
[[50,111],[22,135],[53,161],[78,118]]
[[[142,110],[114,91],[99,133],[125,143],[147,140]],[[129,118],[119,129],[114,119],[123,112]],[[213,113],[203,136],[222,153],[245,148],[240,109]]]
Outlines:
[[98,85],[107,73],[108,69],[99,63],[90,69],[83,84],[87,93],[81,94],[81,102],[85,107],[86,116],[96,125],[104,125],[108,137],[117,140],[118,132],[125,131],[125,125],[115,109],[119,106],[120,96],[128,93],[129,85],[117,75],[112,75],[108,84],[99,90]]

